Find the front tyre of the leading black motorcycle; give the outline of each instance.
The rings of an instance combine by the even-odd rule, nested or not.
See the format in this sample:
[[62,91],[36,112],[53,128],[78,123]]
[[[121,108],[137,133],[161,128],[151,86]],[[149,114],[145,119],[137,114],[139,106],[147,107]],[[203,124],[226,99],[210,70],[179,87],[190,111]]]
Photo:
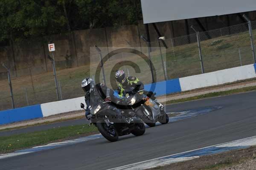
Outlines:
[[108,130],[106,130],[107,124],[104,122],[104,120],[97,121],[96,126],[98,127],[98,130],[102,134],[102,136],[104,136],[106,139],[111,142],[118,141],[118,133],[113,125],[111,125],[111,128],[115,131],[115,135],[110,134]]

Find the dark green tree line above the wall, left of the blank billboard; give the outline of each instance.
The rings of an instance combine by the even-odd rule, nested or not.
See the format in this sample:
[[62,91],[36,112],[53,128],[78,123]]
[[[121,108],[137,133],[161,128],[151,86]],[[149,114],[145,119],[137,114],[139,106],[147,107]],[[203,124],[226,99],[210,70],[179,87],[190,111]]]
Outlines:
[[140,0],[0,0],[0,42],[137,24]]

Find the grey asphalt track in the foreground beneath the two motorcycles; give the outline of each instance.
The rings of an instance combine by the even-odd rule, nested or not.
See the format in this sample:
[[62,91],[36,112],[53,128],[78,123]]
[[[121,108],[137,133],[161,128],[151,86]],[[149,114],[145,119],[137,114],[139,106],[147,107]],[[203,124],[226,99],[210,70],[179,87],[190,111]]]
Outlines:
[[0,160],[1,170],[105,170],[256,135],[256,92],[169,105],[169,112],[222,106],[204,115],[146,129]]

